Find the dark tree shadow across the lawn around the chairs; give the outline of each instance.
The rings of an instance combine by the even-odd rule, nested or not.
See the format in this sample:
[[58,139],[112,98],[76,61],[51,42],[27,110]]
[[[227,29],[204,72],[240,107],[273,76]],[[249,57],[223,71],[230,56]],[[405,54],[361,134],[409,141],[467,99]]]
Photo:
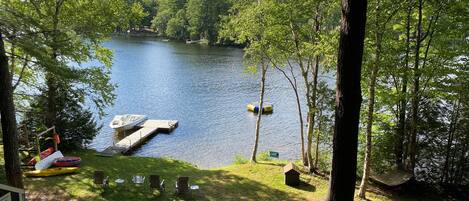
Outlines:
[[[27,190],[40,192],[47,200],[57,200],[57,190],[63,190],[76,200],[303,200],[299,193],[279,190],[226,170],[200,170],[193,165],[171,159],[143,157],[98,157],[92,151],[71,153],[82,158],[79,173],[46,178],[26,178]],[[110,177],[108,189],[93,184],[93,172],[103,170]],[[166,191],[156,198],[148,183],[149,175],[160,175],[165,180]],[[134,175],[146,176],[143,185],[131,182]],[[188,176],[192,190],[186,196],[176,196],[175,182],[179,176]],[[114,180],[125,179],[123,186]],[[52,189],[52,190],[51,190]],[[303,183],[298,189],[315,191],[315,187]],[[59,191],[61,192],[61,191]],[[66,197],[66,196],[65,196]],[[72,200],[73,200],[72,199]]]

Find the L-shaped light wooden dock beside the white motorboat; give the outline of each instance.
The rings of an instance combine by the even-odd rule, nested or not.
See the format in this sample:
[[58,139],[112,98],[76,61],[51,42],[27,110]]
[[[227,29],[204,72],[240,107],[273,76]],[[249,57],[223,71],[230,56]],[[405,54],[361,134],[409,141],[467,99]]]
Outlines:
[[156,132],[169,133],[178,126],[176,120],[146,120],[145,122],[137,125],[137,131],[126,136],[113,146],[106,148],[104,151],[98,152],[101,156],[113,156],[118,153],[129,154]]

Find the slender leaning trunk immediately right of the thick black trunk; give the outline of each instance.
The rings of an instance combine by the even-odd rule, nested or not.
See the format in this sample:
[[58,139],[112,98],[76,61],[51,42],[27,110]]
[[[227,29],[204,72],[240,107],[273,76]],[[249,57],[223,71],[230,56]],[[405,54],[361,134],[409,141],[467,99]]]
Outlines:
[[370,163],[371,163],[371,146],[372,146],[372,129],[373,129],[373,113],[375,107],[375,86],[376,79],[378,77],[379,65],[381,62],[381,30],[384,27],[381,27],[379,20],[381,20],[381,10],[380,10],[380,1],[378,0],[378,5],[376,6],[376,19],[375,19],[375,62],[371,69],[370,77],[370,86],[369,86],[369,100],[368,100],[368,113],[367,113],[367,122],[366,122],[366,150],[365,150],[365,161],[363,164],[363,177],[360,184],[360,190],[358,192],[358,197],[361,199],[366,199],[366,188],[368,184],[368,178],[370,176]]

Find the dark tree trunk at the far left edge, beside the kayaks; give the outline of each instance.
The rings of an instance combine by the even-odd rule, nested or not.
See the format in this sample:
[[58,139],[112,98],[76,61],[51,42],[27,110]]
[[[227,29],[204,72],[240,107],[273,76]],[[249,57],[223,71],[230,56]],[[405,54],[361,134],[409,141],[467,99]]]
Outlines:
[[8,185],[23,188],[18,152],[15,104],[13,102],[12,77],[8,68],[3,35],[0,33],[0,114],[3,134],[3,155]]

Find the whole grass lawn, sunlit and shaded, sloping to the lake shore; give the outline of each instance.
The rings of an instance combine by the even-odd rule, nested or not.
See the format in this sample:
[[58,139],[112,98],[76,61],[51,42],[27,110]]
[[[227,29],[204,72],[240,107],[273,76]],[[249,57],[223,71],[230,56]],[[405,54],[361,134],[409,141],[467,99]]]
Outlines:
[[[1,147],[3,152],[3,147]],[[231,165],[219,169],[201,170],[195,166],[165,158],[145,157],[100,157],[94,151],[83,150],[65,155],[80,156],[81,169],[72,175],[24,178],[31,200],[322,200],[327,193],[327,179],[302,175],[304,182],[298,188],[283,184],[284,162],[270,161],[259,164]],[[3,153],[1,153],[3,155]],[[0,166],[3,167],[3,157]],[[106,190],[93,185],[93,171],[103,170],[111,178]],[[130,182],[132,175],[157,174],[165,179],[166,191],[162,194],[149,188],[147,179],[141,186]],[[174,184],[178,176],[189,176],[190,184],[199,185],[185,197],[174,195]],[[116,178],[124,178],[124,186],[116,186]],[[3,171],[1,183],[5,178]],[[420,195],[421,196],[421,195]],[[370,200],[435,200],[397,197],[388,192],[373,189],[368,193]]]

